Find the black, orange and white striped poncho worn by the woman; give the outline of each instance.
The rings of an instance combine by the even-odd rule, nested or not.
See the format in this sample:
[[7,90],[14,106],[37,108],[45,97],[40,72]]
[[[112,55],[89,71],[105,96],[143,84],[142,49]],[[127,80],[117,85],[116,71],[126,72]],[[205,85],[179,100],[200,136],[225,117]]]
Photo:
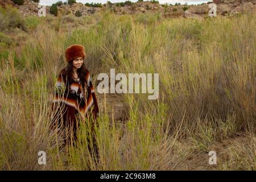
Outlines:
[[85,75],[85,88],[82,88],[80,81],[75,80],[72,81],[69,87],[65,84],[65,78],[62,73],[63,71],[61,71],[60,75],[57,77],[53,103],[64,103],[65,109],[67,109],[66,113],[69,113],[68,117],[71,119],[75,119],[76,113],[80,113],[83,119],[89,117],[90,114],[96,119],[99,110],[94,87],[90,79],[90,73],[87,72]]

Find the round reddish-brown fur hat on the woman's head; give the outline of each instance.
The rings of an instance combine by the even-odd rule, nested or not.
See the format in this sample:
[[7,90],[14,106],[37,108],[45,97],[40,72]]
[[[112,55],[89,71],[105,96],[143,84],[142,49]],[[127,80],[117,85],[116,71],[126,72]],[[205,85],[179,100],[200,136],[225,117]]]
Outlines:
[[76,57],[86,57],[84,52],[84,46],[79,44],[73,44],[69,46],[65,51],[66,60],[69,62]]

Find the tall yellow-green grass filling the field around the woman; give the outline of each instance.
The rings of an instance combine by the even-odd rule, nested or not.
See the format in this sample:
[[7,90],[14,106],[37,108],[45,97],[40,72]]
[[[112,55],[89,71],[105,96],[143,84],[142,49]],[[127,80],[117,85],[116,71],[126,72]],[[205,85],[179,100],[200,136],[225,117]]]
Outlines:
[[[61,31],[61,21],[57,29],[32,22],[38,25],[33,23],[22,56],[14,59],[10,53],[0,61],[0,169],[184,169],[190,155],[207,153],[216,140],[243,131],[255,137],[255,16],[199,21],[106,13],[67,32]],[[68,148],[56,131],[49,131],[55,79],[70,44],[85,46],[95,86],[98,73],[110,68],[159,73],[157,100],[122,95],[127,121],[109,118],[106,101],[100,102],[98,160],[88,147],[89,122],[80,122],[76,146]],[[45,166],[38,164],[41,150],[47,152]],[[218,167],[253,169],[253,148],[239,145],[228,151],[237,163]],[[248,160],[239,158],[240,152],[250,154]]]

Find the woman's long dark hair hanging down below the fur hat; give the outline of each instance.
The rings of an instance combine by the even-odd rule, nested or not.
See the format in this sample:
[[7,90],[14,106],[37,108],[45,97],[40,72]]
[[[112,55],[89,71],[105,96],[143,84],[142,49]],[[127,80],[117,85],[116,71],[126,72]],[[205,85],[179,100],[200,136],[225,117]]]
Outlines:
[[[89,73],[89,70],[85,67],[84,62],[81,65],[81,68],[77,69],[77,75],[80,78],[80,82],[82,84],[82,88],[85,88],[85,84],[88,85],[87,81],[85,80],[86,74]],[[60,74],[63,76],[65,84],[68,81],[68,87],[70,87],[71,82],[73,81],[73,60],[69,61],[67,67],[61,70]]]

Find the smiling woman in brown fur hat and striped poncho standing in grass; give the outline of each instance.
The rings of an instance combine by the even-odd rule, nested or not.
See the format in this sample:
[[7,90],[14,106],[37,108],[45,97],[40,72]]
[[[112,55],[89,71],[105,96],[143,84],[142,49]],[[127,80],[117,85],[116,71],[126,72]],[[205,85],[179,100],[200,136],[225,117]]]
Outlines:
[[[66,144],[73,144],[77,139],[78,115],[81,116],[83,121],[91,122],[96,121],[98,114],[96,94],[90,79],[90,73],[84,64],[85,57],[83,46],[78,44],[69,46],[65,51],[68,65],[61,70],[55,86],[53,108],[56,108],[56,102],[63,107],[63,109],[57,107],[61,110],[61,114],[58,111],[56,112],[60,117],[57,118],[58,123],[55,124],[62,126],[61,128],[66,131],[71,131],[71,134],[68,134],[65,140]],[[61,117],[63,120],[61,120]],[[88,120],[85,120],[86,118]],[[90,123],[90,125],[93,130],[93,123]],[[95,138],[93,140],[95,142]]]

